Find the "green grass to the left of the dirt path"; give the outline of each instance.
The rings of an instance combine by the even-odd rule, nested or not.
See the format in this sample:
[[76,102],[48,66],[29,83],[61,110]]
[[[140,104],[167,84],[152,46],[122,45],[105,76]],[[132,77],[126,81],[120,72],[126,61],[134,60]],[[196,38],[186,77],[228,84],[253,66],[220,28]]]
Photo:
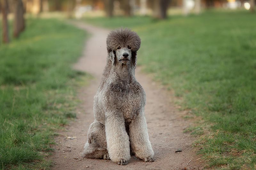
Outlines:
[[84,31],[56,19],[28,19],[26,30],[0,44],[0,167],[48,169],[54,131],[75,118],[77,81],[71,69]]

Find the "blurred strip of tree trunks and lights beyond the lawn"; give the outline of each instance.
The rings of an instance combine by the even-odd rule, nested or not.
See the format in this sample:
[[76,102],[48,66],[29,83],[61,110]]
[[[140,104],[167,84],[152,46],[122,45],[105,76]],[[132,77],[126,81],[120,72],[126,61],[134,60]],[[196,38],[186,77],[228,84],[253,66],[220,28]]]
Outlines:
[[1,0],[3,41],[9,42],[7,16],[14,20],[13,36],[25,29],[24,15],[42,17],[113,17],[200,14],[206,10],[250,10],[255,0]]

